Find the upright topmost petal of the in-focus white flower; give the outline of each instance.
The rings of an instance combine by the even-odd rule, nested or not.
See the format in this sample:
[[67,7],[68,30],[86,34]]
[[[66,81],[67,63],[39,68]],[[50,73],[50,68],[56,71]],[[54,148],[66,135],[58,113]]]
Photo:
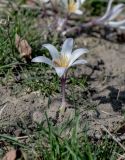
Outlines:
[[66,54],[68,57],[70,57],[72,49],[73,49],[73,39],[67,38],[62,45],[61,54]]

